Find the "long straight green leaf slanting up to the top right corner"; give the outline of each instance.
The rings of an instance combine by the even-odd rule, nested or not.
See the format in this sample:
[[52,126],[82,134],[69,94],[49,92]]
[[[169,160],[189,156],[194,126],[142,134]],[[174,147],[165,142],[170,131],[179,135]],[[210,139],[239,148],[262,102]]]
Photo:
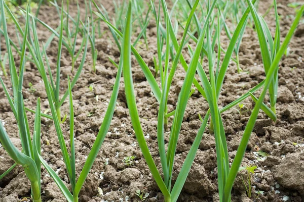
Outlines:
[[229,198],[227,197],[228,195],[230,195],[230,192],[232,190],[232,186],[233,186],[233,183],[234,183],[234,180],[236,178],[236,175],[237,175],[237,172],[239,170],[239,167],[242,163],[242,159],[244,157],[244,154],[245,154],[245,151],[246,151],[246,147],[247,147],[247,143],[249,141],[249,138],[250,138],[250,134],[253,130],[253,127],[254,127],[254,124],[255,124],[255,121],[256,121],[256,118],[257,118],[257,115],[258,115],[258,112],[259,112],[259,109],[262,105],[262,102],[263,102],[263,99],[264,99],[264,96],[267,92],[267,89],[269,88],[271,82],[272,82],[272,79],[273,79],[273,75],[277,69],[277,66],[282,58],[282,56],[284,55],[284,52],[285,52],[285,49],[287,48],[287,45],[291,39],[291,37],[293,36],[293,33],[301,19],[301,16],[303,14],[303,11],[304,11],[304,5],[301,6],[300,10],[297,12],[296,14],[296,17],[269,69],[269,73],[268,75],[266,76],[265,78],[265,84],[264,84],[264,88],[263,88],[263,91],[256,103],[256,105],[254,106],[254,109],[252,111],[252,114],[248,120],[248,124],[245,128],[245,131],[244,131],[244,134],[243,134],[243,137],[242,137],[242,140],[240,142],[240,145],[238,147],[238,150],[237,150],[237,154],[235,156],[235,159],[232,163],[232,166],[231,166],[231,170],[229,172],[229,175],[228,175],[228,178],[226,180],[226,184],[225,184],[225,188],[224,188],[224,192],[223,192],[223,201],[224,202],[227,202],[229,201]]

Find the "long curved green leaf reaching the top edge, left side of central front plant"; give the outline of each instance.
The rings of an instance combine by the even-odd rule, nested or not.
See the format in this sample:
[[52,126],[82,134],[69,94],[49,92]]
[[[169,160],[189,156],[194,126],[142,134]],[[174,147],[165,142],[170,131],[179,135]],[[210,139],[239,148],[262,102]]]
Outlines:
[[125,93],[126,93],[126,99],[127,104],[129,108],[129,113],[131,117],[131,122],[135,131],[136,139],[138,141],[138,144],[140,146],[140,149],[142,151],[143,157],[147,162],[147,165],[157,182],[159,188],[161,189],[162,193],[165,196],[165,200],[170,201],[170,193],[160,175],[160,173],[157,170],[157,167],[153,161],[153,158],[151,157],[149,148],[145,142],[144,135],[141,129],[140,121],[139,121],[139,115],[137,112],[136,107],[136,100],[134,95],[134,87],[133,87],[133,79],[132,79],[132,73],[131,73],[131,45],[130,45],[130,38],[131,38],[131,22],[132,22],[132,3],[129,2],[128,6],[128,15],[125,26],[125,30],[128,30],[128,32],[125,33],[125,40],[124,40],[124,54],[123,54],[123,68],[124,68],[124,80],[125,80]]

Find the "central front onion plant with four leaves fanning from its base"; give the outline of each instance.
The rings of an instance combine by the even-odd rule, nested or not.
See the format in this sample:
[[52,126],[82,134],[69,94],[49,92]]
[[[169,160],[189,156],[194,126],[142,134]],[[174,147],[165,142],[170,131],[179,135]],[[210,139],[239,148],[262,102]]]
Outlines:
[[[129,2],[129,10],[131,10],[132,5],[131,1]],[[198,4],[198,1],[196,1],[196,5]],[[162,6],[166,6],[165,2],[162,1]],[[212,5],[213,8],[215,6],[215,3]],[[194,13],[195,8],[192,10],[192,15]],[[211,12],[208,15],[210,18]],[[166,28],[167,28],[167,34],[166,34],[166,55],[165,55],[165,66],[164,66],[164,72],[163,72],[163,89],[164,91],[161,93],[160,98],[160,108],[159,108],[159,115],[158,115],[158,143],[159,143],[159,151],[160,151],[160,157],[161,157],[161,164],[162,169],[164,173],[164,180],[162,179],[155,162],[153,158],[150,155],[148,146],[146,144],[143,131],[141,129],[139,116],[136,108],[136,102],[135,102],[135,95],[134,95],[134,88],[133,88],[133,79],[131,75],[131,46],[127,49],[127,52],[123,55],[123,61],[124,61],[124,80],[125,80],[125,93],[126,93],[126,99],[127,104],[129,107],[130,117],[132,121],[132,125],[135,131],[135,135],[137,138],[137,141],[139,143],[139,146],[142,150],[143,156],[148,164],[148,167],[154,176],[154,179],[156,180],[159,188],[163,192],[165,196],[165,201],[176,201],[178,198],[178,195],[182,189],[182,186],[186,180],[186,176],[191,168],[192,162],[194,161],[196,151],[199,147],[201,138],[203,136],[203,132],[205,130],[207,120],[209,117],[209,112],[206,114],[204,121],[201,125],[200,130],[198,131],[198,135],[188,153],[188,156],[185,160],[185,163],[183,164],[180,174],[178,175],[178,178],[176,180],[176,183],[173,186],[173,189],[171,191],[171,180],[172,180],[172,171],[173,171],[173,162],[174,162],[174,154],[177,144],[177,137],[179,134],[179,130],[181,127],[181,122],[183,119],[183,113],[185,111],[186,102],[188,99],[188,93],[191,90],[191,84],[194,79],[194,73],[196,71],[196,66],[198,63],[199,55],[201,53],[201,44],[203,43],[204,37],[200,37],[200,43],[198,44],[198,49],[196,51],[196,58],[192,60],[191,64],[189,65],[189,70],[191,70],[191,74],[187,72],[186,78],[184,81],[184,86],[181,90],[181,94],[179,95],[179,101],[178,101],[178,108],[179,111],[176,111],[173,125],[171,128],[171,136],[169,140],[168,145],[168,152],[166,154],[165,151],[165,142],[164,142],[164,116],[165,116],[165,105],[166,105],[166,98],[167,98],[167,89],[168,89],[168,75],[169,75],[169,15],[165,15],[166,20]],[[131,16],[127,16],[127,21],[131,25]],[[190,22],[190,20],[188,20]],[[189,23],[188,22],[188,23]],[[203,33],[203,32],[202,32]],[[176,56],[179,58],[179,56]],[[161,69],[161,68],[160,68]],[[171,70],[172,71],[172,70]],[[191,82],[189,82],[191,81]],[[186,86],[186,87],[185,87]],[[175,124],[174,124],[175,123]]]

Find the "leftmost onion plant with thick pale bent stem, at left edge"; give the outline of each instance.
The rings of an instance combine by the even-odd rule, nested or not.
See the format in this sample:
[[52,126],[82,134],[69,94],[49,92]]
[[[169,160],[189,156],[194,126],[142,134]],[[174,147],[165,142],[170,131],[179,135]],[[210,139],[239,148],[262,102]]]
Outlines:
[[[29,31],[29,8],[26,9],[26,21],[25,21],[25,30],[22,42],[22,55],[20,59],[19,75],[17,75],[17,68],[14,61],[14,56],[12,53],[12,48],[8,36],[6,16],[4,12],[4,0],[0,1],[1,9],[1,20],[4,30],[4,37],[6,40],[7,50],[8,50],[8,59],[9,67],[11,74],[11,81],[13,86],[13,98],[11,98],[2,78],[0,77],[3,89],[7,95],[10,106],[12,108],[13,114],[17,120],[18,130],[22,145],[22,151],[20,151],[10,140],[9,135],[7,134],[2,121],[0,121],[0,141],[3,147],[6,149],[9,156],[16,162],[20,164],[27,178],[31,184],[31,197],[34,202],[41,202],[41,163],[37,159],[37,156],[34,154],[34,150],[37,151],[37,154],[40,154],[40,126],[41,126],[41,111],[40,111],[40,98],[37,99],[37,107],[35,114],[35,123],[33,131],[33,139],[30,136],[29,124],[27,116],[25,113],[24,100],[22,95],[22,85],[23,85],[23,75],[25,69],[25,50],[26,50],[26,37],[28,36]],[[14,165],[7,171],[5,174],[8,174],[10,170],[14,168]],[[1,178],[4,175],[1,176]]]

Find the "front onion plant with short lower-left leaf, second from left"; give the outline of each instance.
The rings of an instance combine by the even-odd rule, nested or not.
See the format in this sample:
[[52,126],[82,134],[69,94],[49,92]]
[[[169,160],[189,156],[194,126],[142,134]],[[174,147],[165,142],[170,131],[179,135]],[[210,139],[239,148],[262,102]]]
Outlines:
[[[127,16],[131,16],[131,10],[128,10]],[[87,25],[89,26],[90,23],[88,22]],[[96,140],[94,141],[94,144],[92,146],[92,149],[90,151],[90,154],[88,155],[88,158],[85,162],[85,165],[82,169],[82,172],[80,173],[78,179],[76,178],[75,175],[75,146],[74,146],[74,117],[73,117],[73,103],[72,103],[72,93],[71,93],[71,89],[72,89],[72,83],[70,82],[69,78],[68,78],[68,95],[69,95],[69,106],[70,106],[70,154],[68,153],[68,150],[66,148],[65,145],[65,140],[63,138],[63,133],[62,133],[62,129],[60,127],[60,122],[59,122],[59,118],[57,115],[57,111],[54,105],[54,101],[53,101],[53,94],[52,94],[52,88],[51,88],[51,84],[48,81],[47,78],[47,73],[45,70],[45,66],[44,66],[44,61],[43,61],[43,57],[40,51],[40,45],[39,45],[39,40],[37,37],[37,32],[36,32],[36,27],[35,27],[35,22],[33,20],[32,22],[32,30],[33,30],[33,36],[34,36],[34,42],[35,42],[35,48],[37,51],[37,60],[39,62],[37,62],[37,64],[39,64],[40,66],[38,67],[38,69],[41,71],[42,77],[43,77],[43,81],[45,84],[45,88],[46,88],[46,92],[47,92],[47,97],[49,100],[49,105],[50,105],[50,109],[53,115],[53,121],[54,121],[54,125],[55,125],[55,129],[56,129],[56,133],[58,136],[58,140],[59,140],[59,144],[60,144],[60,148],[61,148],[61,152],[63,155],[63,160],[66,166],[66,170],[68,173],[68,177],[70,180],[70,185],[71,185],[71,190],[72,192],[69,191],[69,189],[66,187],[66,185],[63,183],[63,181],[59,178],[59,176],[56,174],[56,172],[48,165],[48,163],[39,155],[37,154],[38,151],[34,150],[34,152],[37,154],[37,156],[39,157],[41,163],[43,164],[43,166],[46,168],[46,170],[49,172],[50,176],[54,179],[54,181],[56,182],[56,184],[58,185],[58,187],[60,188],[60,190],[62,191],[62,193],[64,194],[65,198],[67,199],[67,201],[69,202],[77,202],[79,200],[79,193],[80,190],[82,188],[82,186],[84,185],[84,182],[92,168],[92,165],[94,163],[95,158],[98,155],[99,149],[103,143],[103,140],[105,138],[105,135],[107,134],[107,131],[109,129],[110,126],[110,121],[112,119],[115,107],[116,107],[116,100],[118,97],[118,92],[119,92],[119,84],[120,84],[120,79],[121,79],[121,74],[122,74],[122,68],[123,65],[125,64],[125,62],[123,62],[124,60],[122,60],[123,56],[125,55],[124,53],[126,53],[126,49],[128,49],[128,47],[130,47],[130,37],[131,37],[131,28],[130,28],[130,21],[127,20],[126,21],[126,27],[125,27],[125,31],[124,31],[124,43],[123,43],[123,49],[122,49],[122,55],[121,55],[121,60],[120,60],[120,64],[119,64],[119,68],[118,68],[118,73],[117,73],[117,77],[116,77],[116,81],[115,84],[113,86],[113,91],[111,94],[111,98],[110,98],[110,102],[108,104],[108,108],[107,111],[105,113],[105,117],[104,117],[104,121],[101,124],[100,130],[97,134]],[[88,30],[88,29],[87,29]],[[87,36],[88,37],[88,36]],[[44,47],[44,46],[43,46]],[[45,50],[43,51],[45,53]]]

